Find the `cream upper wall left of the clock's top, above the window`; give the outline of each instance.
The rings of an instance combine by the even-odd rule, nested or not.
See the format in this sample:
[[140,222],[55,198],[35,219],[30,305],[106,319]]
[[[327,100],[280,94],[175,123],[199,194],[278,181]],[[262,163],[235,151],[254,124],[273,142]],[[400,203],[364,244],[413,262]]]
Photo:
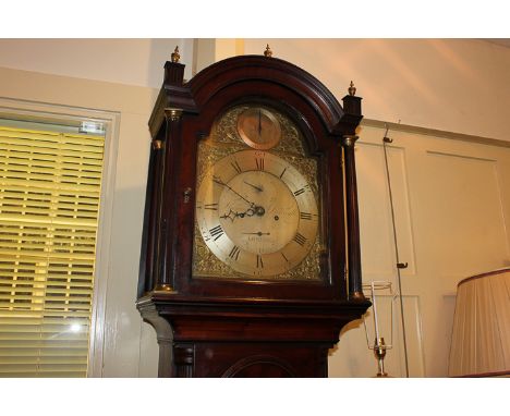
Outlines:
[[0,39],[0,66],[159,88],[175,46],[190,78],[193,39]]

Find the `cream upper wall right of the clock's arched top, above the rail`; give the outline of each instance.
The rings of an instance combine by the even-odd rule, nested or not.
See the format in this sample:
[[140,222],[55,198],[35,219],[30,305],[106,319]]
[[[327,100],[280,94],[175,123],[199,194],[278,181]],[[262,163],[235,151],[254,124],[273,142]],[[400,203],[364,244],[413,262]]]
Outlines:
[[510,48],[474,39],[244,39],[340,99],[351,79],[367,119],[510,140]]

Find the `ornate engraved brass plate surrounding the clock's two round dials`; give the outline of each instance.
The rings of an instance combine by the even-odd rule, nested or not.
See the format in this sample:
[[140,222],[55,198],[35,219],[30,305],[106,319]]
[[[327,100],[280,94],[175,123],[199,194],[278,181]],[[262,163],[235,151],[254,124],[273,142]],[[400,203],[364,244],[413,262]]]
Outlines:
[[[210,174],[209,172],[211,171],[211,169],[215,166],[217,166],[217,163],[221,159],[232,156],[236,152],[241,152],[246,149],[252,149],[253,151],[253,147],[248,146],[246,142],[244,142],[242,137],[240,136],[238,124],[239,124],[240,114],[247,111],[248,109],[258,109],[258,108],[260,108],[260,106],[258,105],[255,105],[255,106],[242,105],[242,106],[233,107],[227,110],[224,113],[218,117],[215,124],[212,125],[210,134],[206,138],[199,140],[198,157],[197,157],[197,164],[196,164],[196,189],[197,189],[196,196],[197,198],[198,198],[198,193],[199,193],[199,188],[202,184],[203,183],[205,184],[206,176]],[[317,159],[309,157],[307,152],[305,151],[304,137],[302,136],[300,130],[298,129],[298,126],[291,119],[289,119],[283,113],[275,109],[269,109],[268,107],[264,107],[264,109],[269,111],[278,121],[278,124],[281,130],[281,136],[280,136],[279,142],[269,151],[265,151],[265,150],[262,150],[262,151],[264,151],[266,155],[270,152],[271,155],[284,161],[286,163],[291,164],[293,168],[295,168],[295,170],[303,176],[304,182],[306,182],[309,185],[309,189],[313,194],[316,206],[318,207],[318,212],[321,212],[320,210],[321,192],[320,192],[319,183],[317,182]],[[242,172],[240,173],[244,173],[244,171],[246,172],[250,171],[248,168],[241,167],[241,169],[242,169]],[[281,174],[281,172],[279,174]],[[251,173],[248,175],[251,175]],[[240,180],[242,179],[243,176],[240,178]],[[244,178],[244,180],[246,180],[246,178]],[[246,182],[250,182],[250,180],[246,180]],[[244,185],[250,187],[250,185],[246,185],[246,184]],[[255,189],[255,188],[252,187],[252,189]],[[278,189],[281,191],[281,188],[279,187]],[[281,192],[279,194],[283,195],[284,193]],[[198,199],[195,199],[195,200],[198,201]],[[202,203],[208,204],[203,200]],[[217,203],[219,204],[219,201]],[[248,206],[245,207],[243,210],[246,210]],[[238,212],[241,213],[243,212],[243,210],[238,210]],[[302,210],[304,213],[307,212],[304,208]],[[227,209],[227,212],[229,212],[228,209]],[[224,215],[227,212],[221,212],[219,213],[219,216]],[[307,252],[307,254],[304,255],[301,262],[298,264],[298,260],[296,260],[293,262],[296,265],[293,268],[287,268],[286,269],[287,271],[272,274],[272,276],[270,276],[270,272],[268,270],[259,274],[257,272],[254,273],[254,270],[252,269],[245,272],[238,271],[236,269],[232,268],[229,262],[224,262],[223,260],[221,260],[212,252],[209,245],[206,244],[204,240],[203,231],[201,230],[201,227],[199,227],[198,217],[199,217],[199,212],[198,210],[195,210],[195,228],[194,228],[194,234],[193,234],[193,262],[192,262],[193,265],[192,277],[194,279],[229,279],[229,280],[230,279],[241,279],[241,280],[255,279],[255,280],[315,281],[316,282],[324,278],[323,272],[321,272],[321,264],[324,260],[324,254],[325,254],[326,247],[325,247],[324,230],[323,230],[324,224],[323,224],[323,219],[320,218],[320,215],[318,216],[318,219],[316,221],[317,231],[315,233],[315,240],[312,242],[311,238],[307,238],[306,243],[309,242],[311,248]],[[266,217],[266,219],[267,218],[269,217]],[[235,219],[239,220],[240,218],[236,217]],[[214,225],[211,224],[211,227],[208,230],[212,230],[214,227],[217,227],[217,225],[219,225],[219,223],[214,224]],[[289,230],[293,230],[293,229],[289,227]],[[215,231],[212,230],[212,232]],[[253,232],[262,233],[263,230],[256,230]],[[291,233],[291,231],[289,231],[289,233]],[[296,234],[294,234],[294,236]],[[266,235],[266,238],[268,236]],[[216,243],[219,242],[220,238],[218,238]],[[275,247],[278,247],[278,246],[281,247],[283,245],[284,238],[282,236],[279,238],[281,238],[281,240],[278,240],[278,242],[280,243],[275,242],[274,243]],[[300,237],[298,236],[298,238]],[[241,249],[241,245],[239,244],[241,243],[240,240],[236,240],[236,241],[231,240],[231,241],[233,244],[232,249],[234,249],[234,246],[238,246]],[[280,249],[283,249],[283,248],[280,248]],[[229,250],[228,255],[230,255],[231,250]],[[236,255],[235,252],[236,249],[234,249],[234,252],[232,253],[232,256]],[[239,256],[241,257],[241,254]],[[280,257],[283,259],[281,255]],[[262,258],[262,260],[264,261],[264,257]],[[228,261],[231,261],[231,260],[228,260]],[[269,266],[267,262],[265,262],[264,267],[268,268]],[[256,257],[255,257],[255,268],[256,268]]]

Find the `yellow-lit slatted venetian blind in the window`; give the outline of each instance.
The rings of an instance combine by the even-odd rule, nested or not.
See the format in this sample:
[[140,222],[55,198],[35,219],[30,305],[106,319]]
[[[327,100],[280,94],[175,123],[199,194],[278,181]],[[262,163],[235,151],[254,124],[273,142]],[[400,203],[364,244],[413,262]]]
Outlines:
[[0,124],[0,377],[85,377],[104,136]]

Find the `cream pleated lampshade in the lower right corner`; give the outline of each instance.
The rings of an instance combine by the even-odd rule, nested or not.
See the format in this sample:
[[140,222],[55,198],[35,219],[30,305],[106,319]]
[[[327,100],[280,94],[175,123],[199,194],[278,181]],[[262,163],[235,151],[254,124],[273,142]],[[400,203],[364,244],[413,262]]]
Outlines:
[[510,375],[510,268],[459,283],[448,372]]

